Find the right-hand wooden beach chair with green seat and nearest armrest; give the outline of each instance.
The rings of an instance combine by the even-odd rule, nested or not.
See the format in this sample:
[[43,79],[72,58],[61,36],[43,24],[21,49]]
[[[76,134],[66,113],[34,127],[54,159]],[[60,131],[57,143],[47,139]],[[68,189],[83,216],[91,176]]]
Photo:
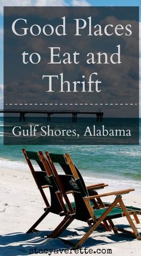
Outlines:
[[[48,156],[48,153],[46,153]],[[50,154],[51,159],[55,156],[55,154]],[[59,157],[59,156],[58,156]],[[76,172],[75,166],[69,156],[69,154],[65,154],[65,161],[69,165],[70,170],[72,172],[72,175],[60,175],[60,182],[63,184],[63,190],[65,191],[73,191],[73,196],[75,199],[75,219],[81,220],[87,222],[88,220],[91,221],[91,227],[88,230],[88,232],[82,237],[81,240],[75,245],[75,248],[78,248],[82,243],[87,240],[88,236],[96,230],[97,227],[99,227],[100,223],[102,221],[109,220],[111,221],[111,227],[112,230],[114,230],[114,233],[118,233],[118,231],[121,231],[125,234],[129,234],[130,236],[136,237],[138,240],[141,240],[141,236],[139,232],[137,231],[136,226],[134,225],[133,221],[131,220],[130,215],[134,214],[134,211],[128,211],[125,207],[123,201],[122,201],[122,194],[128,194],[131,191],[134,191],[133,188],[130,188],[128,190],[119,190],[114,191],[112,193],[103,193],[103,194],[96,194],[93,196],[88,195],[88,190],[85,187],[84,182],[81,182],[81,179],[79,178],[78,173]],[[60,161],[55,160],[57,163]],[[54,173],[55,175],[55,173]],[[111,203],[108,207],[102,206],[100,209],[93,209],[91,206],[90,200],[97,200],[101,199],[102,197],[106,196],[112,196],[115,195],[114,202]],[[120,208],[117,207],[117,204],[120,205]],[[130,227],[133,231],[124,230],[119,227],[115,227],[114,223],[112,223],[112,220],[114,218],[121,218],[126,217],[128,223],[130,224]],[[74,219],[74,215],[73,215]],[[66,227],[65,227],[66,228]],[[56,233],[53,234],[51,237],[57,237],[62,233],[64,230],[64,227],[60,228],[60,230],[56,230]]]

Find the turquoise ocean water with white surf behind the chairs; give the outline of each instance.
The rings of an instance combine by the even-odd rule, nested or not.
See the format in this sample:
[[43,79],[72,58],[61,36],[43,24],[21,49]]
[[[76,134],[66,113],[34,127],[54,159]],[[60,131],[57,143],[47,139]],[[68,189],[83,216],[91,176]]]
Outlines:
[[140,145],[3,145],[3,135],[3,117],[0,117],[1,167],[28,171],[22,148],[69,153],[86,182],[105,182],[117,189],[136,187],[136,191],[141,191]]

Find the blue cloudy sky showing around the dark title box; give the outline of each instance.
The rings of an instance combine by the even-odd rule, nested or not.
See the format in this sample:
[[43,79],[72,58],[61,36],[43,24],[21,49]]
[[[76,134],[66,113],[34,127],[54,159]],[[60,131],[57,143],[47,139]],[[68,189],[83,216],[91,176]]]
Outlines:
[[[139,6],[141,0],[0,0],[0,108],[3,99],[3,7],[4,6]],[[140,13],[141,17],[141,13]],[[141,19],[141,18],[140,18]],[[141,49],[141,47],[140,47]],[[141,54],[140,54],[141,56]],[[140,79],[141,85],[141,79]],[[141,102],[141,95],[140,95]],[[140,104],[141,105],[141,104]],[[140,111],[141,115],[141,111]]]

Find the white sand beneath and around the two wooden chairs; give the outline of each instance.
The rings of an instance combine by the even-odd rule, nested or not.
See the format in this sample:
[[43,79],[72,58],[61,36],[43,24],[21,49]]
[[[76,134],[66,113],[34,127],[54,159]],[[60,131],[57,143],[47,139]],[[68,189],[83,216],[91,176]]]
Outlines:
[[[44,213],[43,209],[45,207],[30,171],[10,170],[1,167],[0,176],[0,255],[29,255],[29,252],[32,252],[29,250],[34,250],[35,248],[36,250],[40,249],[40,254],[43,252],[42,250],[46,249],[43,255],[50,255],[50,252],[47,254],[47,249],[61,250],[63,248],[70,248],[69,245],[65,245],[59,238],[45,239],[44,237],[46,233],[50,233],[62,220],[62,217],[58,215],[48,214],[45,220],[38,226],[38,230],[42,231],[26,234],[28,228]],[[105,188],[99,192],[110,191],[109,188]],[[123,199],[126,205],[136,205],[141,208],[140,196],[140,194],[131,192],[130,194],[124,195]],[[107,197],[105,200],[109,201]],[[141,222],[141,215],[139,219]],[[114,220],[114,223],[127,225],[128,227],[125,217]],[[73,221],[61,237],[76,242],[76,240],[81,237],[81,234],[84,234],[86,227],[87,224],[84,222]],[[141,232],[141,224],[136,224],[136,227]],[[95,255],[99,255],[100,251],[97,251],[97,249],[112,249],[112,255],[114,256],[139,256],[141,251],[141,241],[123,236],[122,234],[114,234],[113,232],[100,229],[94,231],[84,243],[83,247],[84,246],[96,251]],[[67,255],[67,252],[68,251],[66,251],[65,254],[65,252],[62,253],[62,251],[55,251],[54,253],[52,252],[51,255]],[[69,251],[69,253],[72,255],[81,255],[81,252],[78,253],[78,251]],[[86,255],[90,255],[91,253],[92,251]],[[103,254],[107,255],[108,251],[104,250]],[[37,254],[33,253],[31,255]],[[85,255],[85,253],[83,255]],[[102,253],[100,255],[102,255]]]

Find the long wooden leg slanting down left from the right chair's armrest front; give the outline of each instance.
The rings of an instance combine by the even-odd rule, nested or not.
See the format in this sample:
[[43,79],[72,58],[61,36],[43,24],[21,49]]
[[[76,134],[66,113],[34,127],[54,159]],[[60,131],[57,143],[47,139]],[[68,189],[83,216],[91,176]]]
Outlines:
[[119,202],[119,196],[117,196],[114,200],[113,203],[111,203],[111,206],[109,206],[109,208],[104,212],[104,214],[102,214],[102,216],[99,218],[99,220],[96,221],[95,224],[93,224],[93,226],[90,228],[90,230],[88,230],[88,232],[81,238],[81,240],[79,240],[79,242],[77,243],[77,245],[75,245],[74,249],[79,248],[80,245],[82,245],[82,243],[85,242],[85,240],[87,240],[88,236],[90,236],[91,233],[93,233],[94,230],[96,230],[96,228],[99,226],[99,224],[105,220],[106,216],[109,214],[109,212],[111,212],[111,210],[115,207],[115,205]]

